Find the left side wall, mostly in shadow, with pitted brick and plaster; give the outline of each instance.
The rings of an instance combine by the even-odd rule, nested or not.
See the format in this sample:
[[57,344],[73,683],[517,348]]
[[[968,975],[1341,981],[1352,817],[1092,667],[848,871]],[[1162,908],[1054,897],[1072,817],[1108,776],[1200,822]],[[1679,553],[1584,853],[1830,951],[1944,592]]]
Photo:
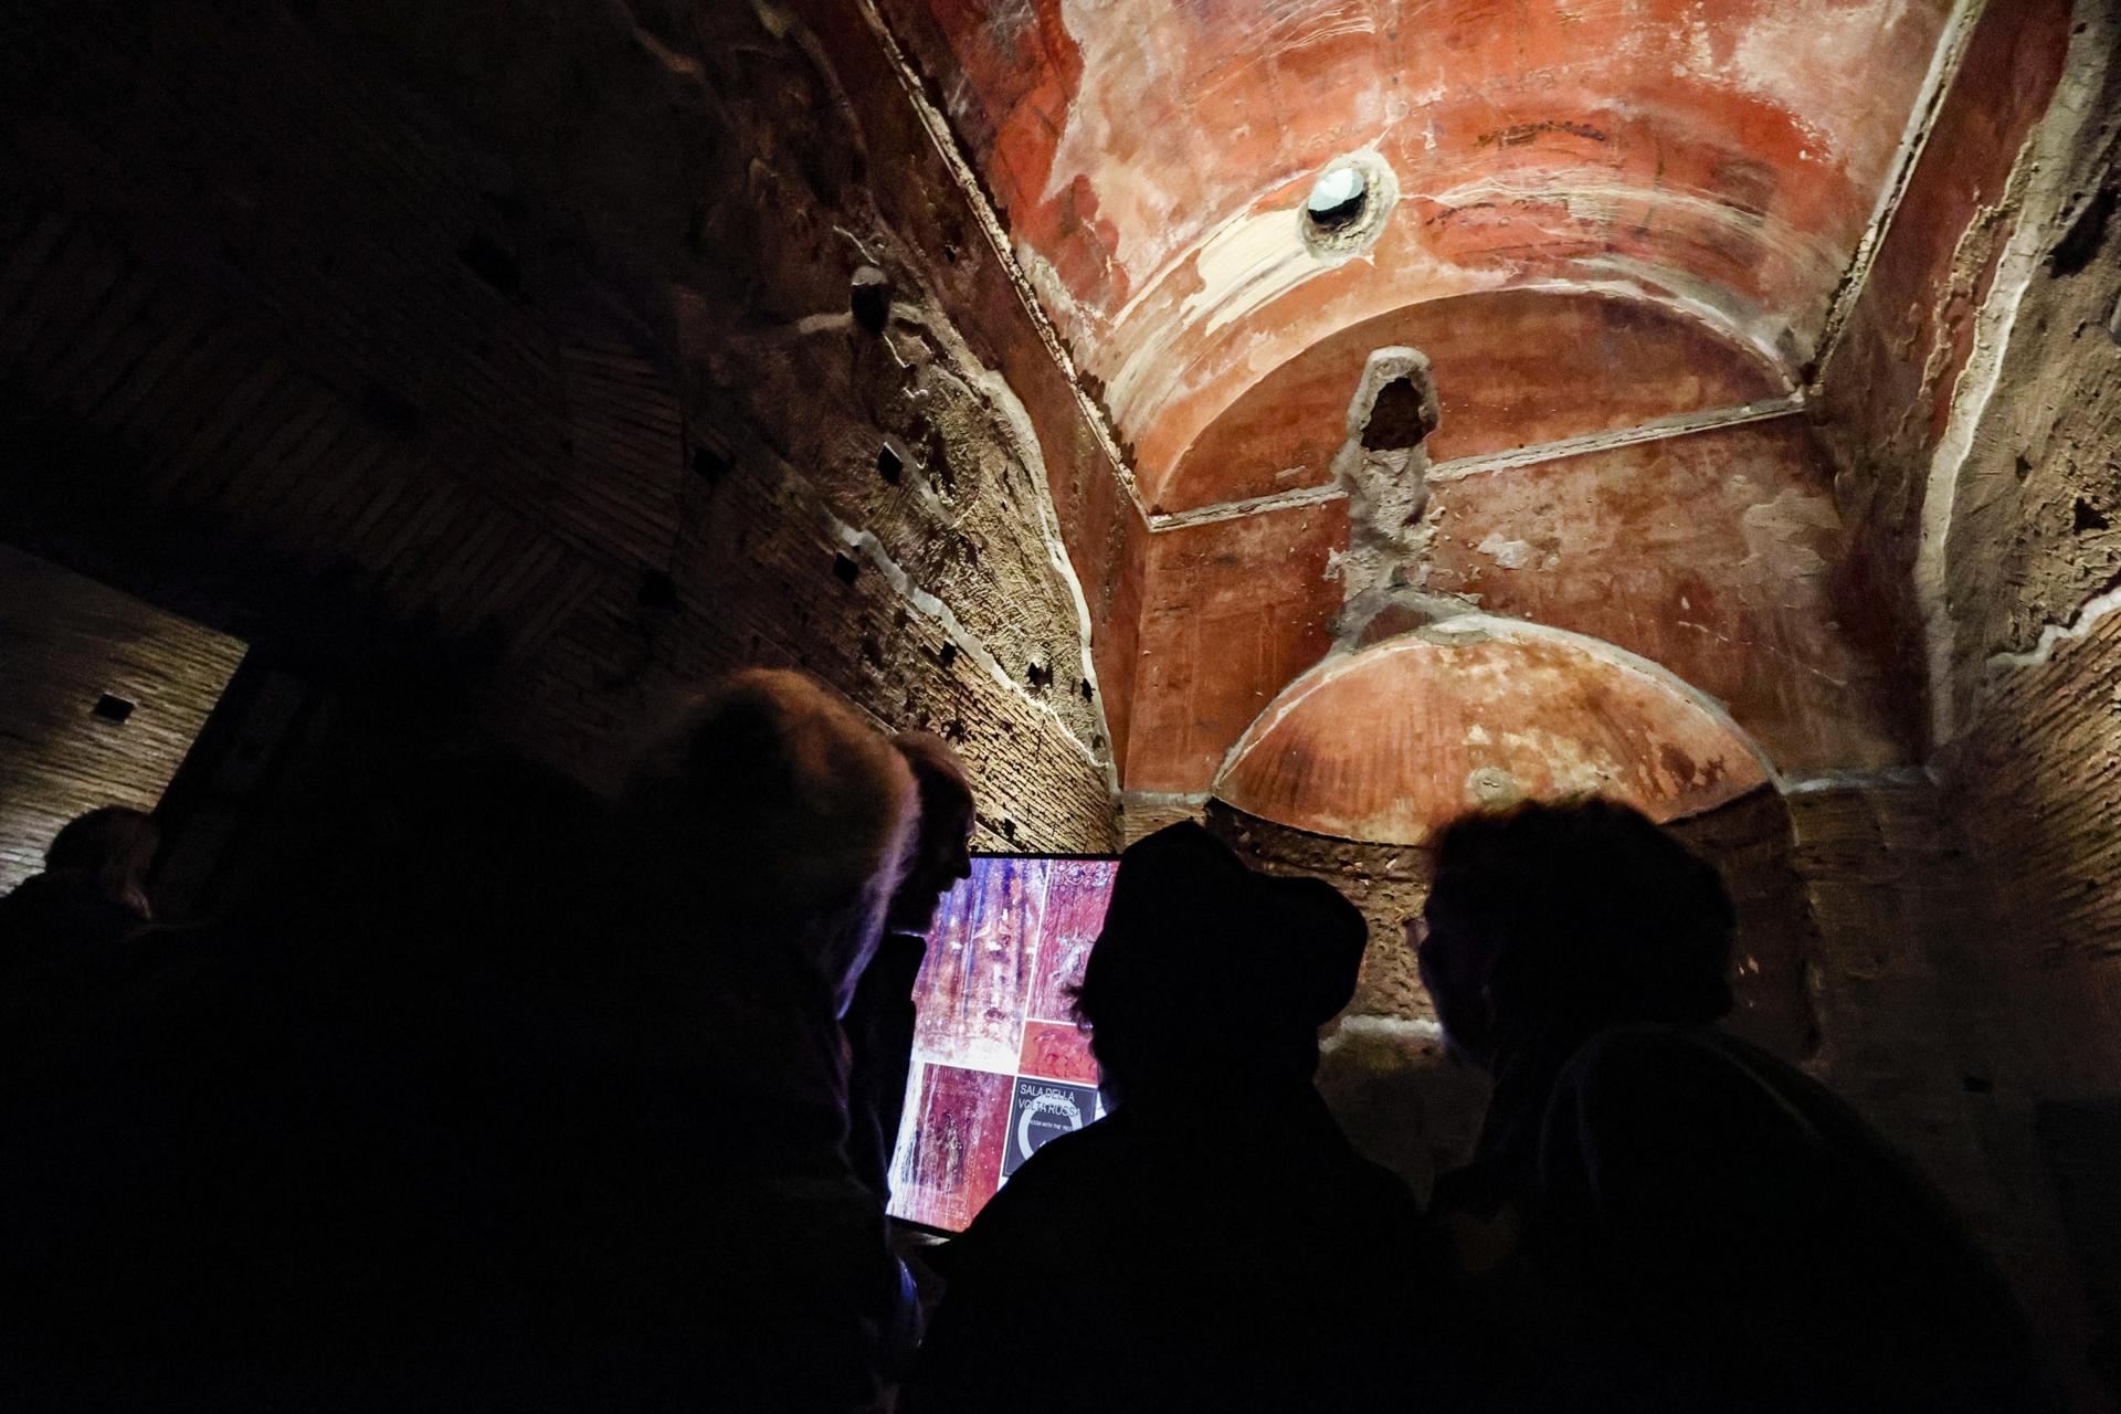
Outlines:
[[486,725],[590,780],[806,666],[961,744],[982,844],[1105,848],[1065,541],[1111,466],[874,36],[804,11],[848,23],[15,6],[0,530],[261,638],[498,644]]

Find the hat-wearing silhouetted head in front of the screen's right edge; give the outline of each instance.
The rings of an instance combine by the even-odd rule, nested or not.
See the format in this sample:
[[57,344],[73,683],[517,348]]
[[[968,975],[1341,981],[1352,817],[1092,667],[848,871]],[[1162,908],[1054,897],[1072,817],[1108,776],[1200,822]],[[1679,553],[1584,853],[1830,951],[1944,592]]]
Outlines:
[[1075,990],[1107,1094],[1309,1079],[1366,939],[1330,884],[1254,873],[1200,825],[1139,839]]

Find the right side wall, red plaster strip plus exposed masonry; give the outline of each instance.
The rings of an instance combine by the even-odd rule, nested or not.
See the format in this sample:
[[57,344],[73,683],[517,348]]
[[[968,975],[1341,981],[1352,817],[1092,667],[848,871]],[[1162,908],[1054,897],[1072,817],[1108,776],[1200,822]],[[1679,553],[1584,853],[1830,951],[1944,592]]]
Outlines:
[[[2110,1117],[2066,1153],[2055,1107],[2110,1115],[2121,1090],[2117,53],[2113,0],[1987,6],[1818,401],[1850,575],[1890,623],[1896,681],[1926,697],[1943,786],[1818,816],[1873,816],[1847,835],[1854,888],[1820,918],[1905,935],[1879,926],[1888,905],[1922,929],[1920,952],[1852,971],[1862,1026],[1837,1075],[1860,1100],[1928,1109],[1930,1134],[1975,1136],[1962,1155],[1987,1200],[1956,1196],[2064,1363],[2089,1348],[2106,1365],[2108,1397],[2121,1238],[2083,1179],[2110,1194],[2121,1155]],[[1905,1088],[1907,1056],[1958,1068],[1964,1094]]]

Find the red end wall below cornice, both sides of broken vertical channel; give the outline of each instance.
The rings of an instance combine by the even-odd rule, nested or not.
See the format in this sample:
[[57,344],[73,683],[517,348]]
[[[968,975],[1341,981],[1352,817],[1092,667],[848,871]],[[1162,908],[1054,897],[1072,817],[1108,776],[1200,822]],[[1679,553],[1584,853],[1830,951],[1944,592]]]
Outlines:
[[[1430,517],[1427,587],[1669,668],[1782,770],[1909,759],[1911,723],[1847,630],[1841,522],[1803,420],[1438,479]],[[1338,500],[1152,536],[1126,789],[1209,789],[1332,647],[1345,545]]]

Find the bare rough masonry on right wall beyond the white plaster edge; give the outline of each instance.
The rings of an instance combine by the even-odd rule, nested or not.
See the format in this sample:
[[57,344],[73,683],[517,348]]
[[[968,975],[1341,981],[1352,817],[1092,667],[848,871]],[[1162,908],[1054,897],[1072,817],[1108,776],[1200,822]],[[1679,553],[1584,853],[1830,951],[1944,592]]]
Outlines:
[[[2110,57],[2121,4],[2081,11],[2081,51]],[[1994,1024],[2062,1098],[2121,1092],[2121,61],[2079,57],[2074,136],[2047,155],[2030,269],[1981,350],[1987,396],[1953,409],[1930,602],[1939,765],[2002,924]]]

